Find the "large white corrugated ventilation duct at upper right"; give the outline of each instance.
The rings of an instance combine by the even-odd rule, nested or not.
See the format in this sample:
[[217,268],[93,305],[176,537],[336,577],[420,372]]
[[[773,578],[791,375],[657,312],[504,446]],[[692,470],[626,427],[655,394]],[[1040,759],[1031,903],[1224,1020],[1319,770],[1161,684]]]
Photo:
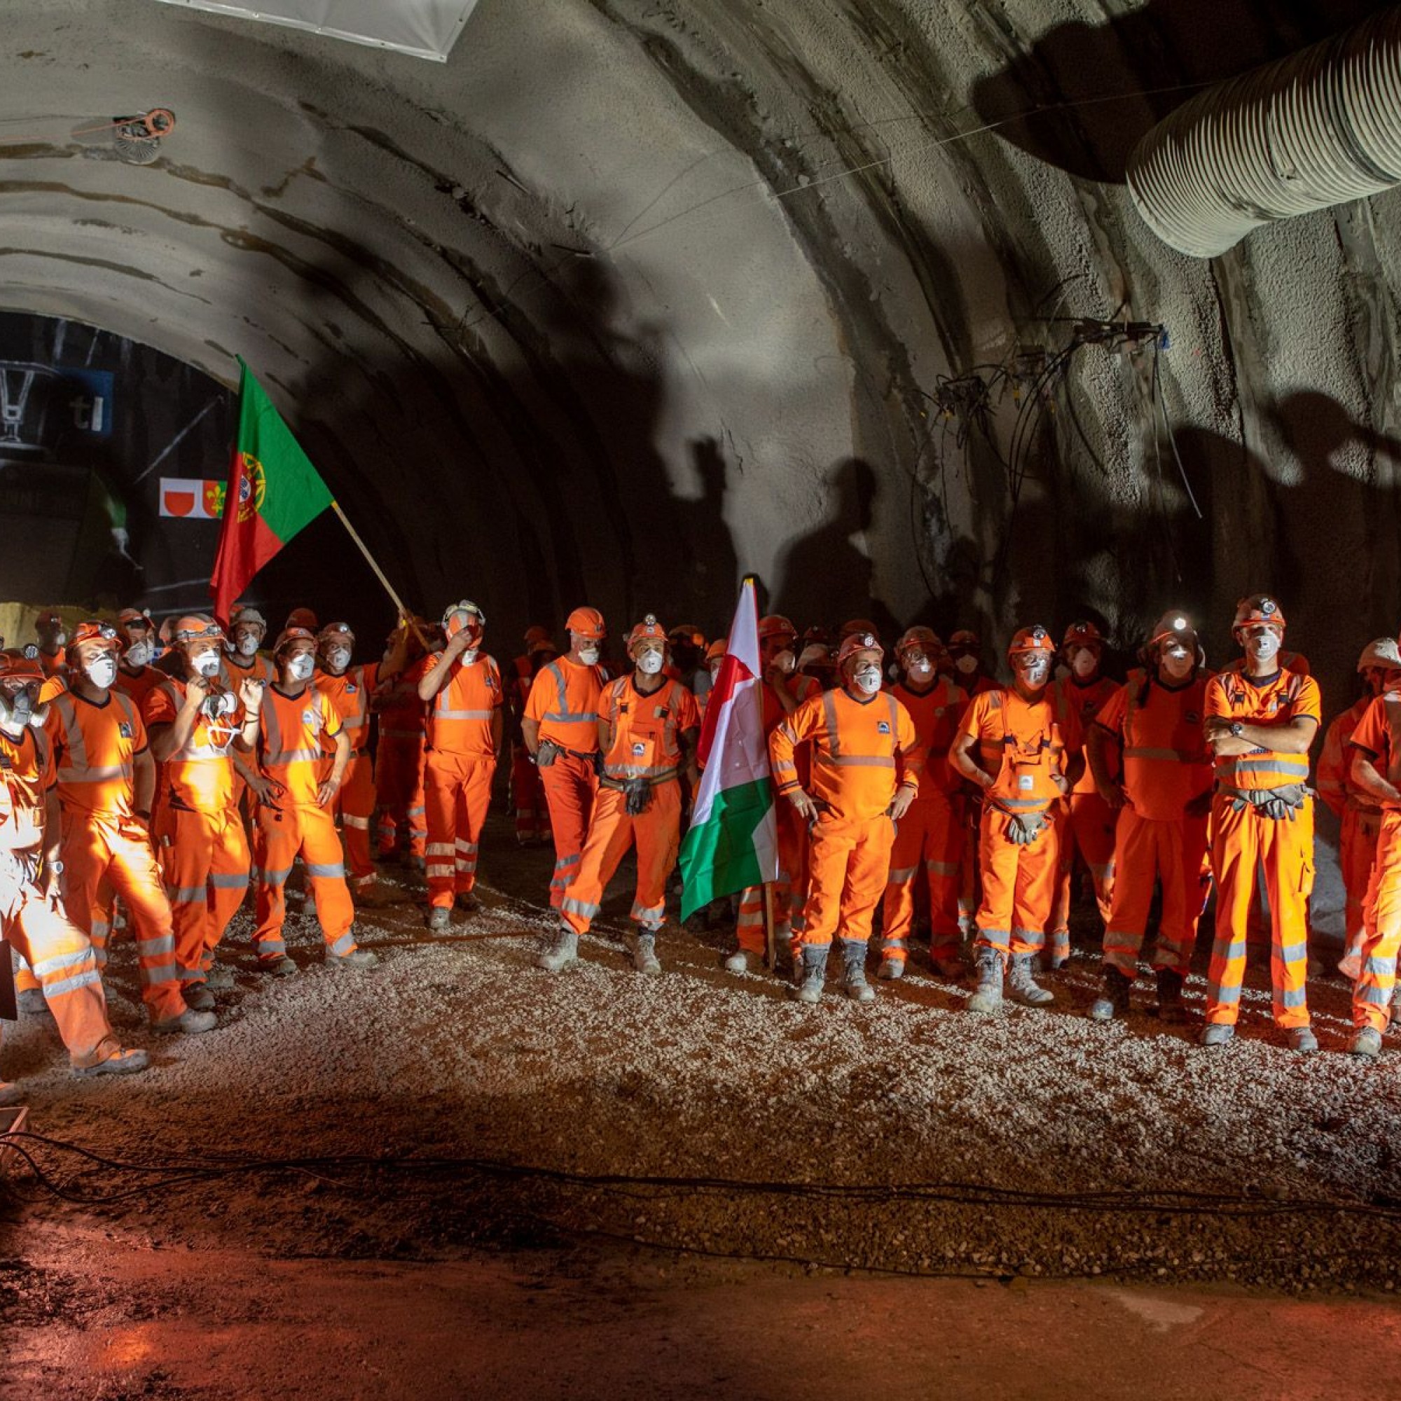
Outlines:
[[1149,228],[1196,258],[1401,184],[1401,8],[1184,102],[1128,184]]

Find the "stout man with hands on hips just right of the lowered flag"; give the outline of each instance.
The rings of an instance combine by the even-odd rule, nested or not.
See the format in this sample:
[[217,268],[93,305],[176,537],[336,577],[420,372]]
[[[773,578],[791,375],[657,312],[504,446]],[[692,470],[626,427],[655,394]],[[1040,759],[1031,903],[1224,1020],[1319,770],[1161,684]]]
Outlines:
[[[842,940],[842,985],[870,1002],[866,948],[885,890],[895,825],[919,792],[925,751],[909,712],[881,691],[884,649],[876,635],[852,633],[838,649],[841,685],[810,696],[769,736],[780,797],[807,824],[808,884],[803,922],[793,930],[796,995],[818,1002],[834,937]],[[811,747],[811,779],[797,766]]]

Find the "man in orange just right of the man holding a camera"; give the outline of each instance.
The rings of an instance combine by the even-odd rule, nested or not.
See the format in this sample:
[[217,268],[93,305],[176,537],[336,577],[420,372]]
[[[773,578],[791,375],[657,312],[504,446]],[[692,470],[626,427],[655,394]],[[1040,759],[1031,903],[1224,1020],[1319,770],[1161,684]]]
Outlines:
[[[354,905],[331,817],[331,804],[350,762],[350,740],[331,698],[311,684],[317,635],[308,628],[286,628],[273,647],[273,661],[277,679],[262,692],[258,772],[248,780],[258,800],[254,825],[258,967],[277,976],[297,971],[287,957],[283,923],[284,885],[300,856],[326,944],[326,967],[370,968],[378,960],[371,950],[356,946]],[[335,744],[329,773],[324,741]]]

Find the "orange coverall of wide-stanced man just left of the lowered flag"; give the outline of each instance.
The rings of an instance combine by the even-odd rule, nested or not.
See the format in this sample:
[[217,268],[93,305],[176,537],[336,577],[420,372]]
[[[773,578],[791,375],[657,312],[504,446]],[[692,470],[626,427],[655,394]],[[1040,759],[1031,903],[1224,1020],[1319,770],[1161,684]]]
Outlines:
[[598,717],[608,724],[608,752],[579,869],[559,912],[576,934],[587,933],[618,863],[636,845],[632,919],[656,933],[667,918],[667,880],[681,848],[679,736],[700,729],[700,710],[679,681],[644,695],[626,675],[604,688]]

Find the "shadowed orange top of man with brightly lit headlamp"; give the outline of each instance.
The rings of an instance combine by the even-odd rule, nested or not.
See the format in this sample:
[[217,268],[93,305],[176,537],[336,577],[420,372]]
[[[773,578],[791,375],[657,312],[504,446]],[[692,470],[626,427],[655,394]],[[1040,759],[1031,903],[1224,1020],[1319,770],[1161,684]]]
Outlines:
[[1122,745],[1124,792],[1139,817],[1175,822],[1210,790],[1212,751],[1202,733],[1206,675],[1167,686],[1135,672],[1094,717]]

